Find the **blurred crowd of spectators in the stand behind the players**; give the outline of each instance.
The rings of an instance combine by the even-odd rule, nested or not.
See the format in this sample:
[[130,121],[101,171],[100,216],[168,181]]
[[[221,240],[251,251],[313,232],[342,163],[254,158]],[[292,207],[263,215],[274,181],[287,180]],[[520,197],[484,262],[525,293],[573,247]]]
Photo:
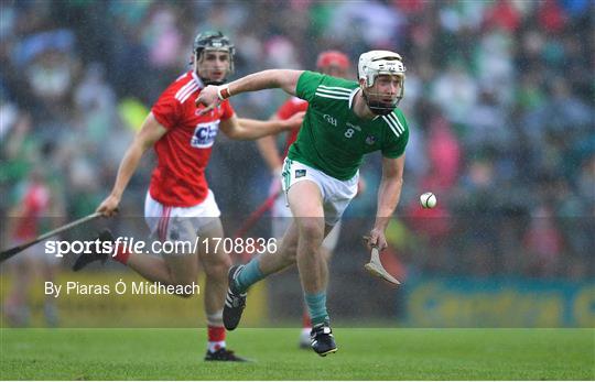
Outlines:
[[[312,69],[328,48],[353,58],[355,78],[361,52],[402,54],[411,138],[397,219],[423,240],[392,244],[410,270],[593,276],[594,12],[591,0],[2,1],[0,210],[36,172],[67,220],[93,211],[152,102],[188,68],[195,34],[220,30],[237,47],[232,78]],[[232,105],[268,118],[284,98]],[[347,218],[374,216],[379,161]],[[149,157],[126,215],[142,216],[151,170]],[[209,179],[224,215],[249,214],[270,176],[253,143],[219,137]],[[425,190],[433,210],[418,206]]]

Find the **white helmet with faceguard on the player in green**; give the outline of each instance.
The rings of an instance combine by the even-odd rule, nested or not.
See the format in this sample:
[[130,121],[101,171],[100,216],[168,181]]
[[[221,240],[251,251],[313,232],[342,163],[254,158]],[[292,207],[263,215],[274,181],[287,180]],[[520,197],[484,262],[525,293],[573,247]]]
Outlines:
[[[389,114],[401,101],[404,96],[404,73],[405,67],[399,54],[390,51],[370,51],[359,56],[357,66],[357,75],[365,86],[361,86],[361,95],[366,105],[370,110],[379,116]],[[378,76],[398,76],[400,78],[400,91],[394,99],[390,101],[383,100],[386,95],[374,91],[372,87],[376,84]]]

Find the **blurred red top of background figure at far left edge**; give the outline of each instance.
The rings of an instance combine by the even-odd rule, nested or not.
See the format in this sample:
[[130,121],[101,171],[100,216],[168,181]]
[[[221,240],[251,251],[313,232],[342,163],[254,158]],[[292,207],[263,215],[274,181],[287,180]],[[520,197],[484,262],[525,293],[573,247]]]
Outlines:
[[39,218],[50,208],[50,188],[43,183],[33,182],[25,188],[21,201],[22,215],[17,219],[14,239],[26,241],[35,238],[39,230]]

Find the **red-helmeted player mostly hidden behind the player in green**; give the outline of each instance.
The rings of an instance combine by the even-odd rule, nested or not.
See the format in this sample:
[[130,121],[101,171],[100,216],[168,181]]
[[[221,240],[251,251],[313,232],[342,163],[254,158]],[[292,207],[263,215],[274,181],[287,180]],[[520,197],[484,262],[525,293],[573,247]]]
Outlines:
[[[345,53],[338,51],[324,51],[321,52],[316,59],[316,70],[333,77],[349,78],[350,70],[349,57]],[[271,117],[271,120],[286,120],[292,118],[299,112],[303,112],[307,109],[307,101],[298,97],[289,98],[277,112]],[[269,170],[272,173],[273,182],[271,185],[271,195],[278,195],[274,204],[271,208],[272,231],[275,238],[282,238],[283,233],[288,229],[291,222],[291,209],[285,204],[283,193],[281,193],[281,182],[279,181],[281,171],[283,168],[283,159],[288,156],[288,150],[295,139],[298,138],[299,129],[289,131],[286,134],[283,154],[279,153],[277,149],[277,139],[273,135],[268,135],[258,140],[258,149],[260,154],[267,162]],[[361,187],[361,185],[359,185]],[[321,251],[324,252],[326,259],[331,258],[332,252],[337,245],[338,237],[340,232],[340,222],[337,222],[331,233],[325,238]],[[300,335],[300,347],[303,349],[310,349],[310,331],[312,330],[312,323],[307,309],[304,307],[302,332]]]

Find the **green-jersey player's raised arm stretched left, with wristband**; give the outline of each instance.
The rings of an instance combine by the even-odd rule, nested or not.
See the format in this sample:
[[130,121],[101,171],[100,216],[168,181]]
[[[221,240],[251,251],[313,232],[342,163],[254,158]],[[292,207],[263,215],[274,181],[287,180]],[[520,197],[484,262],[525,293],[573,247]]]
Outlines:
[[246,91],[257,91],[262,89],[280,88],[288,94],[295,96],[298,79],[304,70],[270,69],[258,72],[246,77],[236,79],[232,83],[214,86],[209,85],[196,98],[196,106],[205,106],[202,113],[210,111],[221,100]]

